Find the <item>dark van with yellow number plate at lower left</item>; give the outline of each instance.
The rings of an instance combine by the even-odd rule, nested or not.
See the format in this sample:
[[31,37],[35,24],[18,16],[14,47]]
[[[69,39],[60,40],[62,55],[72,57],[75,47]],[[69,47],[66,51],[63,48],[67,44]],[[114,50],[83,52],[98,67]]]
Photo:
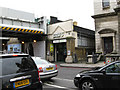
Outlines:
[[38,75],[37,66],[29,55],[0,55],[0,90],[42,90],[42,83]]

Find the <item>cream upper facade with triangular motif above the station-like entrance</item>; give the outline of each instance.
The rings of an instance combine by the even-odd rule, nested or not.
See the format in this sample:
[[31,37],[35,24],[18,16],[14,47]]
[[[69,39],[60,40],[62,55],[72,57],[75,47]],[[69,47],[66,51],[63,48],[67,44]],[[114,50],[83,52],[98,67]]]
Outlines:
[[62,40],[68,37],[75,38],[75,47],[77,47],[77,32],[73,31],[73,20],[55,23],[48,26],[48,38],[50,40]]

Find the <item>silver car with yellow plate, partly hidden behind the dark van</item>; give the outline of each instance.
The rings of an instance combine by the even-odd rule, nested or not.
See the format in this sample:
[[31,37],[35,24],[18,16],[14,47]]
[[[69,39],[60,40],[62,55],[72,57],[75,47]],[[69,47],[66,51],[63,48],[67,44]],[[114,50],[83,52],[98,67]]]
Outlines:
[[41,57],[32,57],[39,70],[41,79],[48,79],[58,75],[57,65],[50,63]]

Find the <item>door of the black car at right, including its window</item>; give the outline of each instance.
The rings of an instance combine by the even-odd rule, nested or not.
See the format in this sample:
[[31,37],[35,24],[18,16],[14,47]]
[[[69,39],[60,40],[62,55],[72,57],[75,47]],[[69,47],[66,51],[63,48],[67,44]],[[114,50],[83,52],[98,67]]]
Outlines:
[[114,63],[112,65],[107,66],[105,70],[105,74],[103,77],[104,87],[107,88],[118,88],[120,82],[120,63]]

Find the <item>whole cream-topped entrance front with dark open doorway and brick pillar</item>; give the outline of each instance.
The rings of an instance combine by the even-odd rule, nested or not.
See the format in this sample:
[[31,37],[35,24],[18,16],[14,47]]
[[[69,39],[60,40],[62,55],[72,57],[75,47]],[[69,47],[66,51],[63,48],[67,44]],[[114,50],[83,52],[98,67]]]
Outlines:
[[[73,22],[52,24],[48,26],[47,60],[55,62],[73,62],[75,53],[75,36]],[[54,50],[51,50],[51,45]]]

